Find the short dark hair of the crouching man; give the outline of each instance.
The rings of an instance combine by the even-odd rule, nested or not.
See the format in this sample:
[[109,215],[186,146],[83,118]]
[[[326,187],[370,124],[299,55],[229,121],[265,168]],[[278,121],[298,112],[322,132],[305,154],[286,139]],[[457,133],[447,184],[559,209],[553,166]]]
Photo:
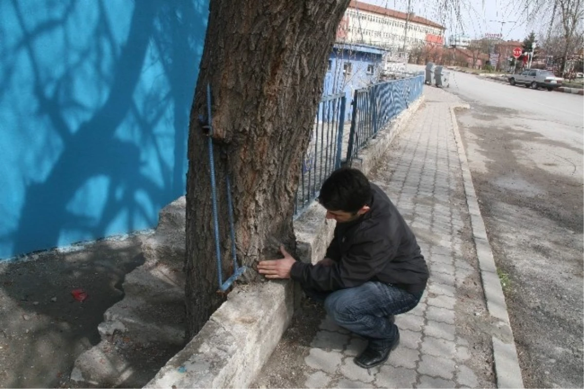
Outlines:
[[329,211],[356,213],[371,202],[371,185],[359,170],[340,168],[322,184],[318,202]]

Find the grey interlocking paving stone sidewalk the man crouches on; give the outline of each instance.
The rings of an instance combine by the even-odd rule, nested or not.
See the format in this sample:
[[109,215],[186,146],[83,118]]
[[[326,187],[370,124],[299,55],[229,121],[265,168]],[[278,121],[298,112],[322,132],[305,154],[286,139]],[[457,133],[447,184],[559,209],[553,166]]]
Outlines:
[[361,369],[353,358],[366,341],[324,318],[310,345],[279,346],[256,387],[495,387],[491,329],[449,110],[458,100],[436,88],[424,93],[426,102],[371,176],[414,230],[430,268],[422,301],[396,319],[399,347],[383,366]]

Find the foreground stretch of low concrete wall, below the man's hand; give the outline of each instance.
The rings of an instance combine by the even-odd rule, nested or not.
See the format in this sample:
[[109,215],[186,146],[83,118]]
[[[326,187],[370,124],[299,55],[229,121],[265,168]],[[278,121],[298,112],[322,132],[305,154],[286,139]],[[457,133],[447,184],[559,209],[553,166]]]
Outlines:
[[237,287],[145,388],[248,387],[286,331],[293,301],[289,281]]

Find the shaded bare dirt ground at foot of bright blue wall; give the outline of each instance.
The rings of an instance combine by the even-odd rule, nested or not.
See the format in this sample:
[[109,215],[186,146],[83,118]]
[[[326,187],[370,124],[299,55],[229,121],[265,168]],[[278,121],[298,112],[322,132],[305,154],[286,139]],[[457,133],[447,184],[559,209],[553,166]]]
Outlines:
[[[104,240],[0,263],[0,388],[88,387],[69,383],[73,363],[100,341],[103,313],[123,298],[126,274],[144,263],[140,245],[138,237]],[[77,288],[85,301],[72,296]]]

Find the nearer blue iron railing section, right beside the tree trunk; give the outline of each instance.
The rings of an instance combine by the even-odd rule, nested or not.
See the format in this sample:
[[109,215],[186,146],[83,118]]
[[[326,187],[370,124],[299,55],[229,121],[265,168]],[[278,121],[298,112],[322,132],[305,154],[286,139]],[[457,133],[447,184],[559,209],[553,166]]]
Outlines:
[[318,197],[322,182],[340,168],[345,105],[345,93],[325,96],[318,105],[312,138],[300,166],[300,184],[294,201],[295,216],[299,216]]

